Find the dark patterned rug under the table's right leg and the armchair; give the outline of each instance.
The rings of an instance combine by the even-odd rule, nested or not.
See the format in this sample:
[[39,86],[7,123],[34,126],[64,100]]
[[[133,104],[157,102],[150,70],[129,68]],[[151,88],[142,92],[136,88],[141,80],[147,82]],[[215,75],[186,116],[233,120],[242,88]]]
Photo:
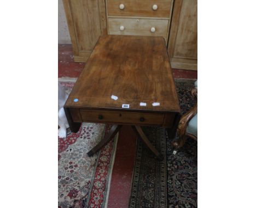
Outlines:
[[[196,102],[190,95],[195,80],[175,79],[175,82],[181,113],[184,114]],[[163,127],[143,127],[143,131],[166,157],[162,162],[155,160],[137,139],[130,207],[197,207],[197,143],[188,139],[173,155],[172,140]]]

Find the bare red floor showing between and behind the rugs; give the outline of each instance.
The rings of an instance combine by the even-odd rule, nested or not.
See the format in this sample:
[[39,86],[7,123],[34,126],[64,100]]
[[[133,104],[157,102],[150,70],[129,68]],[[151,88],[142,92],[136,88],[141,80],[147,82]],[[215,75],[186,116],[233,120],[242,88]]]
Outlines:
[[[59,77],[78,77],[85,64],[74,63],[71,45],[59,45]],[[197,71],[173,69],[174,78],[197,79]],[[119,131],[117,152],[112,172],[108,207],[129,205],[133,163],[136,151],[136,134],[131,126],[123,126]]]

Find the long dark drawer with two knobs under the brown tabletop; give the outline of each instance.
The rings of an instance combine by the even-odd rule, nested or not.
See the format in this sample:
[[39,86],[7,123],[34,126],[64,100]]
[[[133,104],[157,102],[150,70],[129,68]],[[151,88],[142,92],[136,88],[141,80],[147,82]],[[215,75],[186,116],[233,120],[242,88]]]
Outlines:
[[137,113],[122,111],[94,111],[81,109],[83,122],[117,123],[138,125],[162,125],[164,114],[161,113]]

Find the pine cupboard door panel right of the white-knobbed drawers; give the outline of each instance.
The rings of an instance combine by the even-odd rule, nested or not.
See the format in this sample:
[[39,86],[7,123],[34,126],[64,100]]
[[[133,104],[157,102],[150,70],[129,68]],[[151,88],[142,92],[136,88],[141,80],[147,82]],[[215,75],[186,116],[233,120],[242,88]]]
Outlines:
[[174,69],[197,70],[197,0],[176,0],[168,42]]

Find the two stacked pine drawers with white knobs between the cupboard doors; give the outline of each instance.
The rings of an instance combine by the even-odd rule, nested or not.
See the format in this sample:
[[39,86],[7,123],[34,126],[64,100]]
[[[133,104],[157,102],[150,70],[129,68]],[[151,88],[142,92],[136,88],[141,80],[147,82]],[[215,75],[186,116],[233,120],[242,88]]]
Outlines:
[[110,35],[162,36],[168,40],[172,0],[106,0]]

